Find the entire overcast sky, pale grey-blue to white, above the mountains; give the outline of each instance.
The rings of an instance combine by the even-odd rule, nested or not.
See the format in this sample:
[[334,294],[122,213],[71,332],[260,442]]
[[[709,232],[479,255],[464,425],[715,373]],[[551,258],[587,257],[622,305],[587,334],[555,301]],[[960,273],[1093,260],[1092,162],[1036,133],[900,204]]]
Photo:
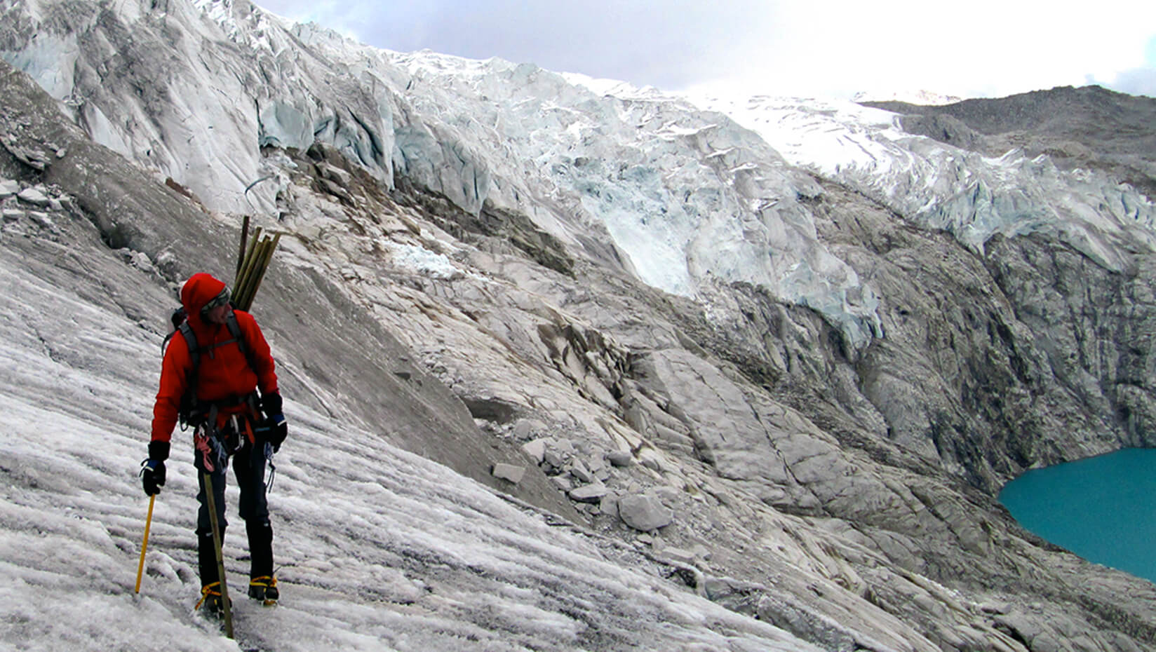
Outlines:
[[654,86],[999,97],[1156,96],[1156,0],[257,0],[388,50],[501,57]]

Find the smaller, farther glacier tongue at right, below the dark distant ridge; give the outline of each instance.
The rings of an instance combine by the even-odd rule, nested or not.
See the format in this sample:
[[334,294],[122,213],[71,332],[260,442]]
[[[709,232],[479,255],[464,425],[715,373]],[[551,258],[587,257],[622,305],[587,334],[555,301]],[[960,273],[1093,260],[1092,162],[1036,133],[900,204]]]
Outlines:
[[[906,133],[895,113],[853,103],[696,98],[757,132],[793,165],[831,178],[975,251],[994,236],[1043,231],[1124,271],[1132,243],[1156,245],[1156,206],[1118,179],[1064,171],[1047,156],[998,156]],[[1127,244],[1126,244],[1127,243]]]

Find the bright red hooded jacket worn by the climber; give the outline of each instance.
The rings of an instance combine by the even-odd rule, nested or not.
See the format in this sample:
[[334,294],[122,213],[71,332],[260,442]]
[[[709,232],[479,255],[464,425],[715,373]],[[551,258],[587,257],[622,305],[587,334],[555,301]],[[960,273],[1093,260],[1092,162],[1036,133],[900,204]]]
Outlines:
[[[277,391],[277,375],[274,371],[273,355],[265,341],[261,328],[253,316],[242,310],[232,313],[237,317],[240,334],[245,338],[257,365],[254,373],[240,347],[232,340],[229,327],[224,324],[212,324],[201,318],[201,309],[224,290],[222,281],[209,274],[194,274],[180,289],[180,303],[188,314],[188,325],[197,336],[200,347],[200,364],[197,370],[197,399],[199,401],[218,401],[240,398],[260,388],[261,395]],[[185,394],[188,372],[193,361],[188,355],[188,343],[185,336],[177,334],[169,341],[161,363],[161,390],[156,393],[156,405],[153,407],[153,439],[168,442],[172,438],[172,429],[177,424],[177,412],[180,398]],[[225,408],[222,412],[237,413],[245,409],[244,405]]]

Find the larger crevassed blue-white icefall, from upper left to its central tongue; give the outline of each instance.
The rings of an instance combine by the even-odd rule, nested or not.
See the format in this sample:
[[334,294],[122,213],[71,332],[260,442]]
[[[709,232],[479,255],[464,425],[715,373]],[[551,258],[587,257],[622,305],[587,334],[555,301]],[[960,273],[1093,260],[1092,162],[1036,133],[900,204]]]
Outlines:
[[[873,291],[816,239],[799,201],[814,181],[725,116],[497,59],[372,50],[245,0],[29,0],[5,15],[9,62],[94,140],[212,208],[273,209],[284,175],[261,148],[318,140],[467,212],[523,213],[662,290],[750,282],[818,310],[857,347],[879,334]],[[129,47],[110,45],[125,32]]]

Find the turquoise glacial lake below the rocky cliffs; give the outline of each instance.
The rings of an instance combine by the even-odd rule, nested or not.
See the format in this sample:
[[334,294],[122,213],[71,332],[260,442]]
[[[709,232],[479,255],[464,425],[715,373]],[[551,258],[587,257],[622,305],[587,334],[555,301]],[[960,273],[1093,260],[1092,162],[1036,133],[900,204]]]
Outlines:
[[1032,469],[999,499],[1040,538],[1156,583],[1156,449]]

